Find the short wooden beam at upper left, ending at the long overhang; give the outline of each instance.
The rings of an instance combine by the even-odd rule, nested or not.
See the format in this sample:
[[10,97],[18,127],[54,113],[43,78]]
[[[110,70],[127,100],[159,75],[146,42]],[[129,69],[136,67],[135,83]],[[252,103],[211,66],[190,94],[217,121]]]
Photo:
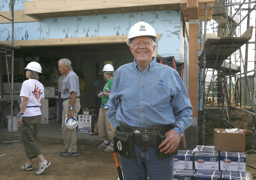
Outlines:
[[[11,11],[2,11],[0,12],[1,15],[5,16],[6,18],[11,19]],[[0,16],[0,23],[11,23],[8,19],[3,18]],[[14,22],[31,22],[31,21],[40,21],[41,19],[34,19],[29,16],[24,15],[24,10],[21,11],[14,11]]]

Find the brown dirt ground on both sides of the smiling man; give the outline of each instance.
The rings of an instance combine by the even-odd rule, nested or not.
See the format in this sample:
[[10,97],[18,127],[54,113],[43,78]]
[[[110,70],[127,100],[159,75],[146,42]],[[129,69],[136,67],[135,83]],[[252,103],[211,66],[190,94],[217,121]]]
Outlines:
[[[225,119],[226,113],[225,113]],[[228,128],[228,123],[222,119],[220,111],[206,111],[205,113],[205,144],[214,145],[214,128]],[[252,116],[239,110],[231,111],[231,125],[246,129],[246,164],[256,167],[256,155],[252,149]],[[202,145],[202,120],[198,120],[198,144]],[[235,143],[235,140],[234,140]],[[117,168],[113,153],[97,149],[97,145],[78,144],[80,156],[63,158],[59,154],[63,144],[40,142],[39,146],[43,156],[52,164],[42,175],[35,175],[39,168],[37,158],[33,160],[33,170],[21,170],[21,165],[26,162],[26,155],[21,142],[0,143],[0,177],[1,179],[113,179],[118,178]],[[1,156],[6,154],[6,156]],[[117,154],[120,163],[120,156]],[[246,166],[251,175],[256,175],[256,170]],[[254,178],[256,179],[256,178]]]

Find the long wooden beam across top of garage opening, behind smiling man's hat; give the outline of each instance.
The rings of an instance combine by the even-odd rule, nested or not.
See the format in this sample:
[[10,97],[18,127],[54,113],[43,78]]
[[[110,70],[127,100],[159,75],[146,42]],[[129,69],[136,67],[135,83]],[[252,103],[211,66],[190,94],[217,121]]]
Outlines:
[[[158,39],[162,34],[157,34]],[[127,35],[123,36],[100,36],[100,37],[75,37],[58,39],[36,39],[36,40],[16,40],[14,45],[18,47],[43,47],[60,45],[83,45],[83,44],[113,44],[126,43]],[[3,44],[11,44],[11,41],[1,41]]]

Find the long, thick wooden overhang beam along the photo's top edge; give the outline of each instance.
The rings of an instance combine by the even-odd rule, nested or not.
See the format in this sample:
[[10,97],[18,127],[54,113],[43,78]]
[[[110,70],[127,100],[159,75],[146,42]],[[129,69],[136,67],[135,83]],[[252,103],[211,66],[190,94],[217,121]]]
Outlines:
[[49,12],[68,12],[107,8],[123,8],[150,5],[177,4],[181,0],[126,0],[126,1],[102,1],[102,0],[40,0],[25,1],[25,14],[40,14]]

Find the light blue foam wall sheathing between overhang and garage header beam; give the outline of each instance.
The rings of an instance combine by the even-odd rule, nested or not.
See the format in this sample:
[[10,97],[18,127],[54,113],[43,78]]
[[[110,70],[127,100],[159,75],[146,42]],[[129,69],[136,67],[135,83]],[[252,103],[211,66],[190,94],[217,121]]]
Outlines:
[[[41,22],[15,23],[14,40],[127,35],[133,24],[145,21],[157,34],[162,34],[157,54],[174,56],[180,62],[181,19],[180,10],[47,18]],[[22,31],[18,31],[20,27]],[[11,23],[1,24],[0,41],[11,40],[10,34]]]

